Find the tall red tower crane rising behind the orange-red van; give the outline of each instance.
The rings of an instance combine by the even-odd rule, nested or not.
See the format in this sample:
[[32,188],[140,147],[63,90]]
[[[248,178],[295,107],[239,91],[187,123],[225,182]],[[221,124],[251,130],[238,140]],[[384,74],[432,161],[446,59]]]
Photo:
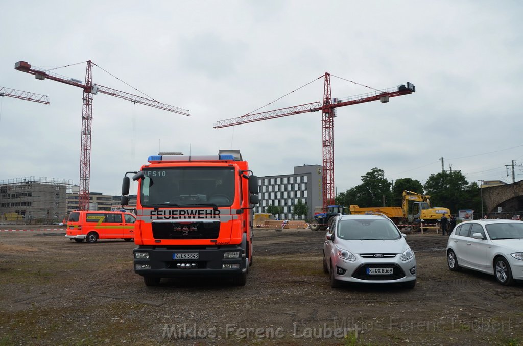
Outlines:
[[89,180],[90,180],[90,160],[91,160],[91,121],[93,120],[93,95],[102,93],[110,96],[129,100],[134,103],[141,103],[142,105],[151,106],[163,109],[169,112],[183,114],[190,116],[186,109],[166,105],[165,103],[156,100],[124,93],[123,91],[111,89],[105,86],[93,84],[92,81],[92,66],[96,65],[90,60],[87,61],[85,71],[85,83],[82,80],[60,76],[50,73],[48,70],[31,66],[25,61],[19,61],[15,64],[15,70],[26,72],[35,75],[36,79],[51,79],[56,82],[69,84],[75,87],[82,88],[84,91],[83,108],[82,108],[82,140],[80,145],[80,191],[78,194],[78,204],[80,210],[89,210]]

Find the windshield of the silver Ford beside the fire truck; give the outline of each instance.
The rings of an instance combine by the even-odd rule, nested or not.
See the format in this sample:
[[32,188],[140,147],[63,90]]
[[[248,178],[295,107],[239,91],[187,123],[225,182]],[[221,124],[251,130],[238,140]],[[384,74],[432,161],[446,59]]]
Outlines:
[[401,234],[389,220],[341,220],[337,235],[345,240],[395,240]]

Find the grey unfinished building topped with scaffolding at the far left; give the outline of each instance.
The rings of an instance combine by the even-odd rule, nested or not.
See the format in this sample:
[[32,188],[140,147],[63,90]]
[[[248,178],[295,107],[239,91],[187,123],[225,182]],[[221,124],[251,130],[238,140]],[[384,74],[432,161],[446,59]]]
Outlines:
[[71,180],[25,177],[0,180],[0,222],[52,223],[67,216]]

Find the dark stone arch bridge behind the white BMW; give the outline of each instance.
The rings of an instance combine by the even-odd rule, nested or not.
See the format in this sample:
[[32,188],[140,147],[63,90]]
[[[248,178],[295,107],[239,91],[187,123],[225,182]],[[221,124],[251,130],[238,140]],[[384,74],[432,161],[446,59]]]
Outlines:
[[523,180],[482,190],[486,213],[497,213],[498,206],[503,212],[523,211]]

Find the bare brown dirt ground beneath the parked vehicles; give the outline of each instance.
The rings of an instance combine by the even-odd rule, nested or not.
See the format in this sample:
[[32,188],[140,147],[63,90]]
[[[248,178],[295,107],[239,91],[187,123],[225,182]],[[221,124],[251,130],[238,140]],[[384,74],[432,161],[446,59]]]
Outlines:
[[412,234],[418,280],[331,289],[325,232],[256,229],[247,284],[132,271],[134,244],[0,232],[0,345],[523,344],[523,284],[447,268],[447,237]]

